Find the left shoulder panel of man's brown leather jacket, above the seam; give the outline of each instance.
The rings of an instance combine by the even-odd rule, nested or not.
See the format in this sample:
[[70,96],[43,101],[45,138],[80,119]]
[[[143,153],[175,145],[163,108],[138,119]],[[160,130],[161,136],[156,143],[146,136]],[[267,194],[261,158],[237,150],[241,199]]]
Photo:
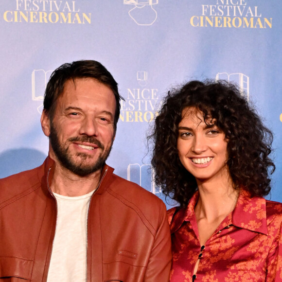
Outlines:
[[39,187],[42,177],[42,165],[31,170],[0,179],[0,202],[22,194],[29,189]]

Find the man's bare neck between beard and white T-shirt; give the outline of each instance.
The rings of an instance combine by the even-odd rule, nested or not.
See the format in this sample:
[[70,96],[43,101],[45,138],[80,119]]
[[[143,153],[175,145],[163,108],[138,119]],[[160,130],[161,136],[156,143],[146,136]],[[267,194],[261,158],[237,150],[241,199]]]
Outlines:
[[78,176],[56,164],[51,190],[63,196],[82,196],[97,188],[100,176],[101,170],[88,176]]

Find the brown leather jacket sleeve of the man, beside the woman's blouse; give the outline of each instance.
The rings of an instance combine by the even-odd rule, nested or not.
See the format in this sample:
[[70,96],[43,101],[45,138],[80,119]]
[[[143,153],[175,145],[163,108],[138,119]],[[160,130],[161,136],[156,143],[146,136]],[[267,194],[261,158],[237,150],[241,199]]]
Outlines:
[[164,203],[160,203],[159,228],[157,229],[144,282],[168,282],[171,260],[171,237],[166,207]]

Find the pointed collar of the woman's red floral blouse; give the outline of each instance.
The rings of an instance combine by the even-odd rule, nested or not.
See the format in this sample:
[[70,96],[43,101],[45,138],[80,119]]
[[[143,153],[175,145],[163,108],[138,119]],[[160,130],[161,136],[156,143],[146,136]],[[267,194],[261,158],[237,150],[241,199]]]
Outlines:
[[[190,199],[186,208],[180,209],[171,223],[171,233],[180,228],[184,221],[191,221],[194,216],[194,207],[198,201],[199,192]],[[250,197],[250,194],[241,189],[237,204],[232,212],[230,224],[242,229],[268,234],[266,222],[266,201],[262,197]]]

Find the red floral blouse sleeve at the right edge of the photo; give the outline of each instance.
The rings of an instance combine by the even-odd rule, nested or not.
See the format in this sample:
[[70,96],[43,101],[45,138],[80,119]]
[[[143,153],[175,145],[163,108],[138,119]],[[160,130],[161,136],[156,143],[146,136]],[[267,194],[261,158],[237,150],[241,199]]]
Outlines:
[[282,223],[268,254],[266,282],[282,281]]

